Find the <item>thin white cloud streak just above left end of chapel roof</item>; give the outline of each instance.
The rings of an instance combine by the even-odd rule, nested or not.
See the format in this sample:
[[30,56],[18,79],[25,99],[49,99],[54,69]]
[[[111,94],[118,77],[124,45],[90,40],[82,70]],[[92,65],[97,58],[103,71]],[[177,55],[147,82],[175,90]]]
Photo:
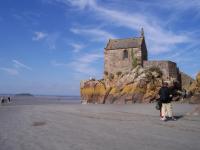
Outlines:
[[91,41],[106,41],[110,38],[116,38],[115,35],[98,28],[71,28],[70,30],[74,34],[90,37]]

